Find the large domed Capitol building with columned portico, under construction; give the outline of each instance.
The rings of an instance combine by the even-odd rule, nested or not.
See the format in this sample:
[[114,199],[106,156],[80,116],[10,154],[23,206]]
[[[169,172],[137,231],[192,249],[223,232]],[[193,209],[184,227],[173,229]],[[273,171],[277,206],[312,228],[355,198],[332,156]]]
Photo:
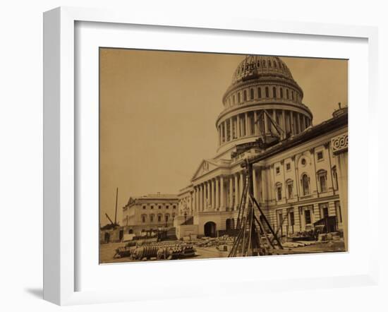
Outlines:
[[[257,158],[254,196],[274,229],[302,232],[328,216],[342,229],[347,221],[347,108],[313,126],[303,90],[277,56],[246,57],[222,102],[215,123],[216,155],[202,160],[190,184],[178,193],[174,225],[181,236],[214,236],[234,228],[245,157]],[[259,148],[257,139],[263,136],[278,143]]]

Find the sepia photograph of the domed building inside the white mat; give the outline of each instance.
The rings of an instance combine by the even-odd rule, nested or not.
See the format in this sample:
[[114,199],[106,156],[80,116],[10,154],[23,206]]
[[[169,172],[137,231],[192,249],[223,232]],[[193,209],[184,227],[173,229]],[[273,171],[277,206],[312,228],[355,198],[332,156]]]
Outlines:
[[348,60],[100,47],[98,230],[100,264],[347,252]]

